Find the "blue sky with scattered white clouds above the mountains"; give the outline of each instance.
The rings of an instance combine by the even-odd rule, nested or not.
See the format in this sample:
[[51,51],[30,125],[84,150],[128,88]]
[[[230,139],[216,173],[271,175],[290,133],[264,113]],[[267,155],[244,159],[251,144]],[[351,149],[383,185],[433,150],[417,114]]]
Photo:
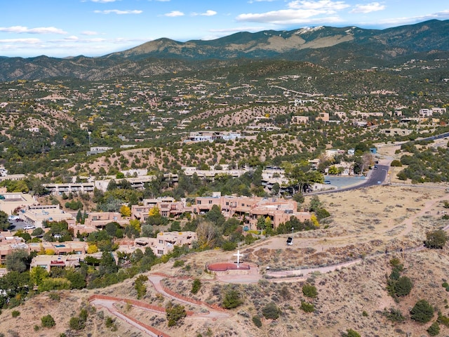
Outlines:
[[100,56],[167,37],[449,19],[445,0],[0,0],[0,55]]

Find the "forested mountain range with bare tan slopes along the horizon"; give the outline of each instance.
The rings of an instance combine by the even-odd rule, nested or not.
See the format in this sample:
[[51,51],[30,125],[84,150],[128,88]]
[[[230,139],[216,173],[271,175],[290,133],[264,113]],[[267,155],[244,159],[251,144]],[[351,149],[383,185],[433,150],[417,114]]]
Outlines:
[[0,81],[71,77],[105,80],[196,71],[236,59],[311,62],[332,70],[389,67],[411,58],[449,58],[449,20],[389,29],[313,27],[265,30],[209,41],[157,39],[102,57],[0,57]]

